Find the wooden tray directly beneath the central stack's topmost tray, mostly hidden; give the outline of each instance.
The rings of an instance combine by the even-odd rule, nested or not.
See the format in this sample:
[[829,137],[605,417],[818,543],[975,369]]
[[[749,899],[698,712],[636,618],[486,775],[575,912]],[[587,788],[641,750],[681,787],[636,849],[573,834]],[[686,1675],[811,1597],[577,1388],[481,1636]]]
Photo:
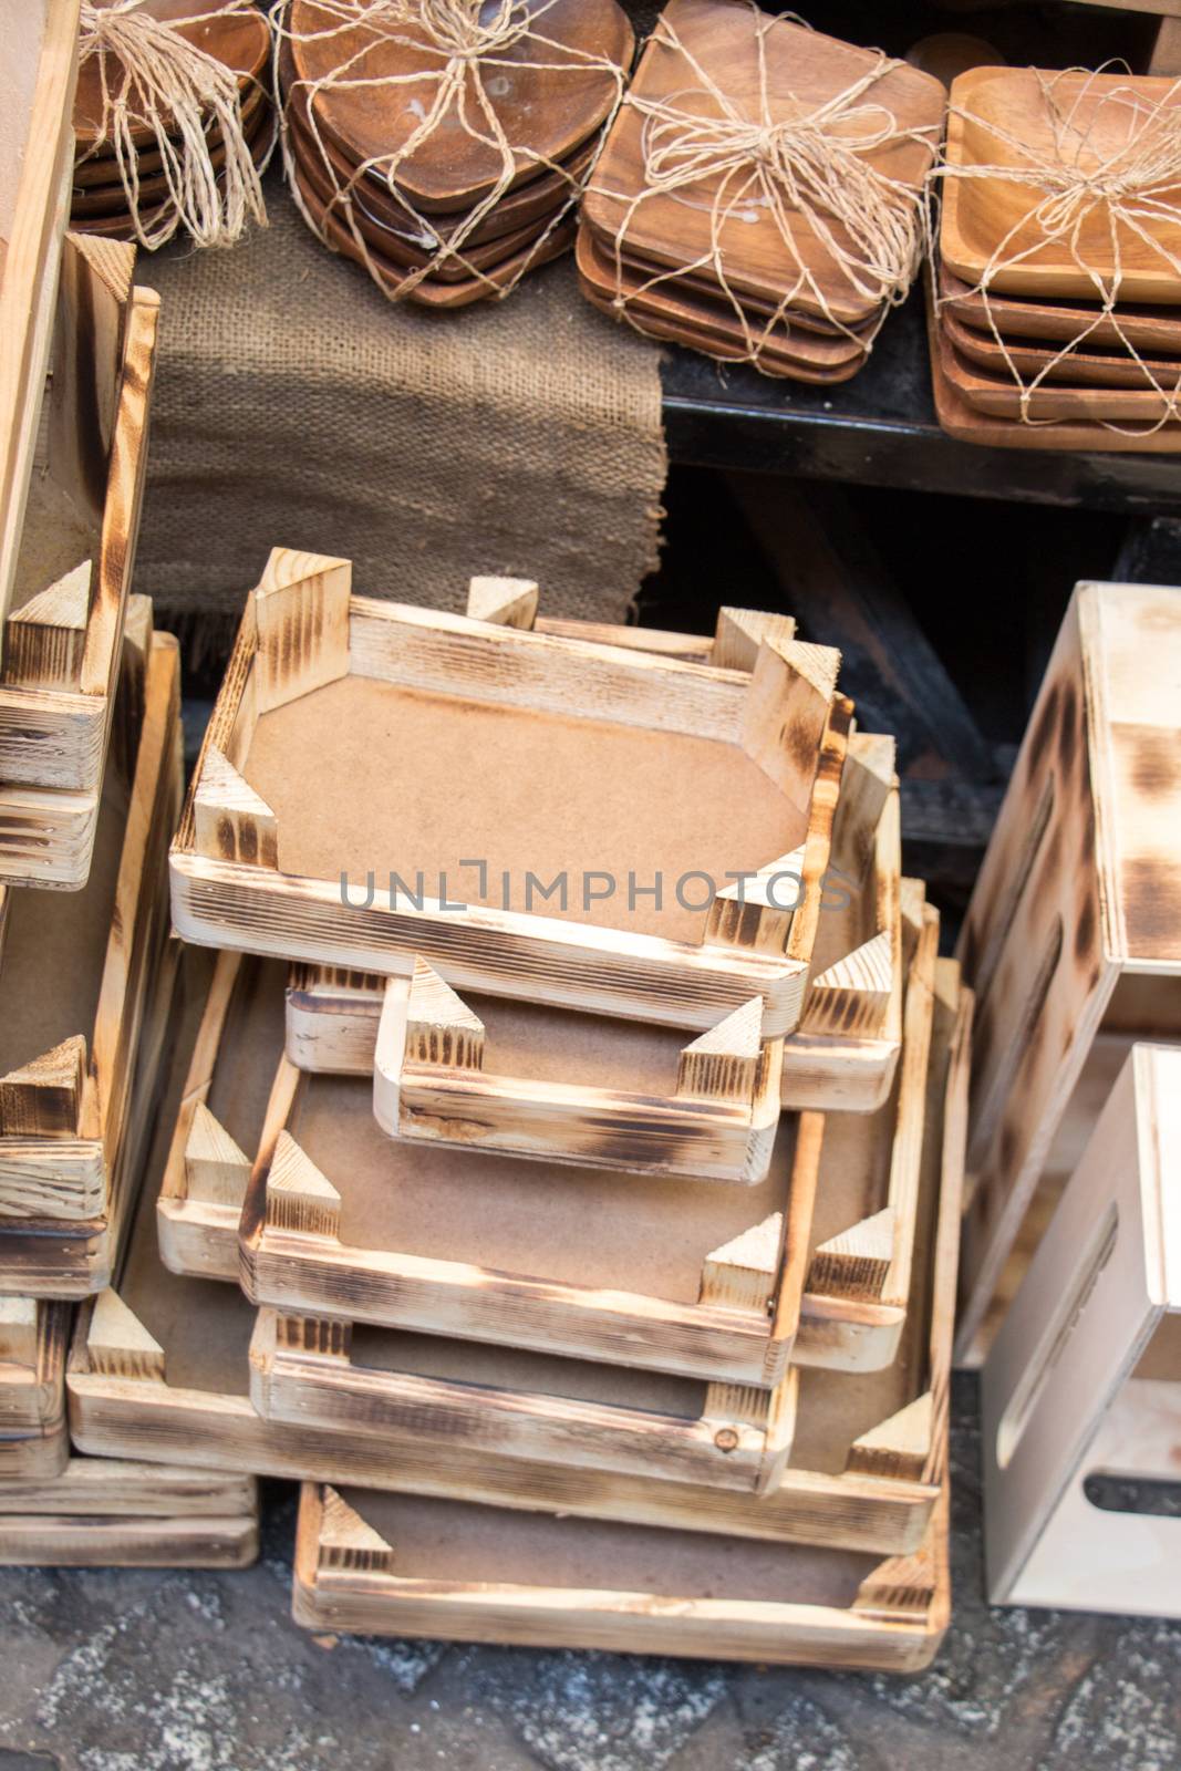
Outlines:
[[[657,650],[685,662],[751,669],[765,636],[790,641],[790,616],[724,607],[714,639],[551,622],[526,579],[473,579],[467,613],[535,632]],[[830,726],[813,790],[811,855],[799,866],[806,894],[788,951],[811,944],[811,979],[800,1025],[784,1041],[783,1105],[871,1112],[889,1094],[901,1040],[901,836],[892,739],[853,733],[843,762]],[[834,779],[839,799],[830,811]],[[830,824],[825,818],[830,811]],[[786,884],[776,896],[793,896]],[[374,1070],[384,983],[338,967],[306,967],[289,997],[289,1056],[301,1070],[368,1075]],[[552,1011],[551,1011],[552,1013]]]

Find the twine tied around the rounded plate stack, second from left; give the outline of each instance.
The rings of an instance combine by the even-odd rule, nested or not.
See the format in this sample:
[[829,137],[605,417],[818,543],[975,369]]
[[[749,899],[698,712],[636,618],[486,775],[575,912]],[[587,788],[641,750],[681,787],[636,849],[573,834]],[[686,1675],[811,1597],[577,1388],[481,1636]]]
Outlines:
[[[347,230],[352,241],[352,255],[365,266],[382,294],[391,296],[391,299],[402,301],[413,296],[421,282],[437,278],[444,267],[459,267],[464,280],[476,280],[483,285],[485,294],[503,299],[512,294],[538,259],[551,257],[554,248],[565,239],[590,170],[598,159],[607,128],[623,96],[625,73],[606,57],[590,55],[545,35],[540,25],[545,12],[556,4],[558,0],[496,0],[490,16],[485,16],[489,7],[483,0],[315,0],[315,12],[324,19],[324,25],[315,32],[299,34],[290,27],[292,0],[273,0],[271,23],[276,32],[276,44],[283,39],[292,44],[299,41],[319,43],[333,35],[354,37],[354,34],[359,39],[342,46],[340,66],[329,74],[319,80],[296,80],[292,83],[287,92],[287,103],[282,108],[280,140],[287,181],[296,205],[312,232],[326,246],[333,246],[331,234],[312,213],[299,188],[297,159],[292,151],[287,117],[289,106],[297,99],[301,117],[312,136],[317,172],[333,193],[324,204],[326,216],[336,220]],[[414,55],[425,51],[432,66],[405,74],[365,73],[367,57],[382,41],[398,44]],[[526,50],[524,55],[517,53],[522,46]],[[614,97],[606,122],[598,129],[590,165],[581,174],[574,174],[568,166],[551,159],[528,142],[508,140],[492,103],[492,92],[489,90],[499,69],[513,73],[529,69],[552,74],[598,71],[614,83]],[[342,177],[338,161],[328,151],[320,131],[315,99],[324,92],[347,94],[351,90],[374,90],[381,87],[388,87],[391,92],[425,87],[425,101],[414,99],[420,113],[418,122],[398,149],[374,154],[359,161],[347,177]],[[430,214],[420,213],[414,207],[413,198],[400,182],[400,172],[443,128],[446,119],[457,120],[473,142],[494,152],[496,175],[489,184],[487,195],[473,204],[460,225],[443,237],[436,230]],[[478,230],[482,223],[517,181],[522,159],[529,163],[531,172],[554,174],[561,181],[565,195],[513,273],[510,276],[503,271],[489,273],[473,262],[473,241],[480,237]],[[405,228],[393,228],[391,232],[407,246],[430,255],[423,266],[407,266],[398,278],[397,289],[391,289],[388,267],[386,275],[382,275],[382,266],[374,257],[363,225],[368,221],[370,228],[388,228],[384,220],[379,221],[365,207],[365,188],[372,181],[377,181],[398,209],[405,213]],[[398,266],[400,271],[402,266]]]

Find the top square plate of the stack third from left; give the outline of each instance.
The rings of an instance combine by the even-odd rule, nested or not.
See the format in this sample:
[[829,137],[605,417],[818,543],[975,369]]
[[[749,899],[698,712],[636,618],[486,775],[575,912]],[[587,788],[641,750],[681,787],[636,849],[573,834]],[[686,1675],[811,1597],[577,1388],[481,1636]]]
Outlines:
[[[675,27],[687,55],[708,71],[714,83],[744,112],[758,115],[758,12],[722,0],[669,0],[662,16]],[[869,50],[857,50],[784,21],[772,23],[765,35],[765,53],[770,103],[779,117],[836,97],[876,64]],[[692,103],[703,115],[715,115],[717,103],[701,92],[701,76],[687,55],[660,35],[653,35],[641,57],[632,92],[652,101],[678,97],[680,103]],[[685,99],[685,94],[691,97]],[[937,129],[946,108],[944,89],[930,74],[901,66],[884,74],[869,89],[864,103],[889,106],[898,117],[899,129],[933,126],[930,145],[903,140],[866,156],[868,165],[878,172],[903,184],[919,186],[935,154]],[[583,202],[586,221],[600,243],[614,241],[627,220],[630,200],[645,182],[643,165],[645,119],[625,104],[611,126],[593,189]],[[701,197],[692,202],[685,195],[668,195],[639,204],[627,227],[629,251],[671,267],[701,259],[710,248],[712,205],[708,184],[696,189]],[[876,310],[876,303],[857,294],[848,275],[802,216],[797,248],[820,283],[832,315],[841,322],[857,324]],[[754,202],[722,225],[721,251],[726,282],[744,299],[761,298],[774,306],[784,290],[797,283],[791,253],[767,211]],[[823,303],[804,290],[793,306],[823,313]]]

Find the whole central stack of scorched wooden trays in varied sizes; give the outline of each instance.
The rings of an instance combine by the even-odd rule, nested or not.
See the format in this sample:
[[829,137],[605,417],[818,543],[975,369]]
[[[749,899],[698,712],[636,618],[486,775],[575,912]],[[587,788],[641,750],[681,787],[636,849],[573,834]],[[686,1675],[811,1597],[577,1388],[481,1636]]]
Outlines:
[[172,850],[188,1071],[71,1429],[303,1479],[319,1628],[919,1667],[970,999],[892,746],[783,616],[536,602],[273,553]]

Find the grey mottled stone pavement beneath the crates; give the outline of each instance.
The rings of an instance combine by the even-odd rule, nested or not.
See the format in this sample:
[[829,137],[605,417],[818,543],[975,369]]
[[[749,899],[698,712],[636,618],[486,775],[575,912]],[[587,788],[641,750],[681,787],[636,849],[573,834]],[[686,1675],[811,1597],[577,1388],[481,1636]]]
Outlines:
[[974,1394],[954,1622],[917,1679],[319,1645],[287,1615],[274,1486],[246,1574],[0,1571],[0,1771],[1176,1771],[1181,1624],[983,1605]]

